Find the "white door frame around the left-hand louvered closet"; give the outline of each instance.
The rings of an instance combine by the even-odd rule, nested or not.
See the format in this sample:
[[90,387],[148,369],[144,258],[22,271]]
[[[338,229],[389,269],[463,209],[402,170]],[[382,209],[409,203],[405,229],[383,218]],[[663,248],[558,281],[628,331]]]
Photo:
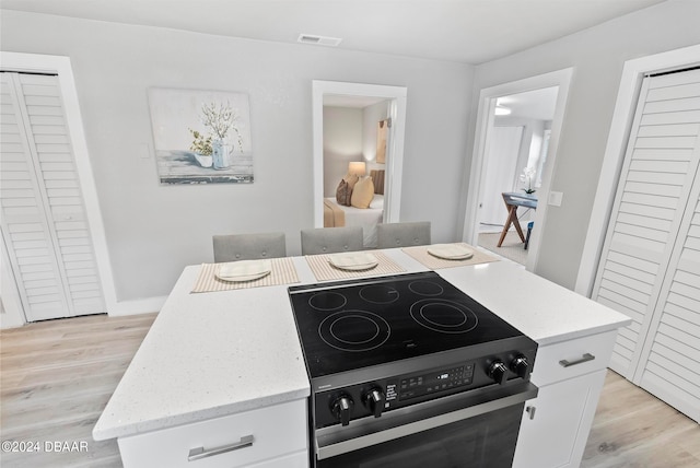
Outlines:
[[[90,163],[90,153],[88,152],[88,142],[82,125],[80,103],[70,58],[63,56],[0,51],[0,62],[2,63],[2,69],[8,71],[56,73],[58,75],[63,112],[66,113],[70,143],[73,150],[75,172],[78,173],[80,188],[83,195],[85,215],[88,217],[91,241],[95,251],[102,293],[107,312],[114,311],[117,305],[117,300],[114,288],[114,277],[112,274],[112,262],[109,260],[107,238],[102,211],[100,210],[97,188]],[[22,315],[24,316],[23,312]]]

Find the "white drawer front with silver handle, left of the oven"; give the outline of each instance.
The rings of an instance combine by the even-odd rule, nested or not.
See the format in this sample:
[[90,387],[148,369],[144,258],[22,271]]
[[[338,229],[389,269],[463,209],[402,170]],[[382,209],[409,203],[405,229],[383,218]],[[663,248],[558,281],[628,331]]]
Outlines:
[[[125,468],[232,468],[305,452],[306,423],[303,399],[121,437],[118,442]],[[200,448],[199,456],[191,453]]]

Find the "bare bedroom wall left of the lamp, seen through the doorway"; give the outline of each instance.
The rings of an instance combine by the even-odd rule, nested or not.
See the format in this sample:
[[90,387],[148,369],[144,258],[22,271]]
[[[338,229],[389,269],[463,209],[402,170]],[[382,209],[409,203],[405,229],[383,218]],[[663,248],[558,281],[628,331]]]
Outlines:
[[324,197],[335,197],[351,161],[362,161],[362,109],[324,106]]

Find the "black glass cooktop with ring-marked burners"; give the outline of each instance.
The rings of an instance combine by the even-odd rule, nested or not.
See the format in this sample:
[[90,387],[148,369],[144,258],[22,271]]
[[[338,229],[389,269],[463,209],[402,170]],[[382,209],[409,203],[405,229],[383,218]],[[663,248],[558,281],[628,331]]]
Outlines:
[[523,335],[434,271],[289,294],[312,378]]

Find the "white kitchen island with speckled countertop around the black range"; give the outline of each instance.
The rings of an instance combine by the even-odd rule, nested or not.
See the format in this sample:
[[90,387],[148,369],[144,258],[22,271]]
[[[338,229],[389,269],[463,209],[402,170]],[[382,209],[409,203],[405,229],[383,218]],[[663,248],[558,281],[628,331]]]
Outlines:
[[[428,269],[401,249],[383,254],[405,272]],[[298,284],[317,282],[304,257],[292,260]],[[118,438],[127,467],[186,466],[188,458],[211,463],[202,466],[219,466],[214,460],[226,466],[307,466],[310,383],[289,284],[190,293],[200,268],[187,267],[178,279],[95,425],[94,438]],[[546,390],[546,398],[540,393],[527,406],[521,430],[527,444],[518,442],[515,465],[523,460],[521,466],[528,466],[535,452],[529,448],[544,443],[538,431],[552,430],[549,425],[528,429],[528,423],[544,420],[575,425],[570,431],[574,440],[568,442],[573,448],[568,452],[571,466],[576,466],[597,403],[598,381],[602,388],[599,375],[605,373],[617,328],[629,319],[506,260],[436,271],[540,346],[532,378]],[[586,354],[595,358],[561,367],[563,372],[557,368],[560,360],[575,361]],[[548,422],[547,400],[556,403],[559,395],[549,389],[559,390],[582,377],[588,389],[572,410],[575,424]],[[246,424],[256,429],[248,430]],[[253,432],[255,442],[248,438]],[[553,435],[558,432],[562,431]],[[280,440],[285,443],[279,444]],[[208,447],[228,451],[217,455]],[[550,463],[549,458],[544,461]]]

